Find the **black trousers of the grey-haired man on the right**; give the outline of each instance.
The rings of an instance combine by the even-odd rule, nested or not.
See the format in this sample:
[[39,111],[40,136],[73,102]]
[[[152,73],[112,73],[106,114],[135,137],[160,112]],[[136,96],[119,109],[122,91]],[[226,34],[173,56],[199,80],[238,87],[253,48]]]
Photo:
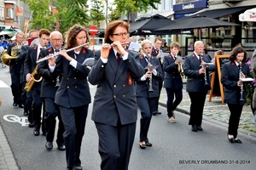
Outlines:
[[191,101],[189,125],[201,126],[206,97],[207,92],[189,92]]

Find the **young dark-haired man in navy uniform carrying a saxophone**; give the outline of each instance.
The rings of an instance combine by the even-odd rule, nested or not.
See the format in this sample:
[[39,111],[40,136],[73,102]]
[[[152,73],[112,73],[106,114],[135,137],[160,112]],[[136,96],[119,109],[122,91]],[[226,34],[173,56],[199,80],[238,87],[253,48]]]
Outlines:
[[[40,51],[45,47],[45,45],[49,42],[49,34],[50,31],[41,29],[39,31],[39,42],[38,46],[35,47],[29,47],[28,52],[26,55],[25,63],[24,63],[24,72],[26,74],[26,82],[32,81],[32,78],[38,79],[36,77],[37,75],[32,75],[32,72],[35,71],[35,68],[37,67],[36,61],[40,59]],[[38,80],[37,80],[38,81]],[[32,86],[32,116],[34,119],[33,126],[34,126],[34,135],[39,135],[39,129],[41,127],[41,111],[42,111],[42,105],[43,105],[43,99],[40,97],[41,93],[41,81],[34,82]],[[44,115],[44,111],[43,111]],[[43,116],[44,117],[44,116]],[[43,119],[44,121],[44,119]],[[32,122],[30,122],[31,124]],[[42,123],[42,131],[44,132],[44,122]]]

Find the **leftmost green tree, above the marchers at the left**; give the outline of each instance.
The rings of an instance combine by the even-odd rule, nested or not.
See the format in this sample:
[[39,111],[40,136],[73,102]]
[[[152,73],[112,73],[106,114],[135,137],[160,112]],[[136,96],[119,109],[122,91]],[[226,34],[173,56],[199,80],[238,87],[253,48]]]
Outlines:
[[32,24],[33,29],[45,28],[52,31],[55,27],[55,16],[51,14],[49,6],[45,4],[50,4],[52,0],[21,0],[28,4],[28,8],[32,11]]

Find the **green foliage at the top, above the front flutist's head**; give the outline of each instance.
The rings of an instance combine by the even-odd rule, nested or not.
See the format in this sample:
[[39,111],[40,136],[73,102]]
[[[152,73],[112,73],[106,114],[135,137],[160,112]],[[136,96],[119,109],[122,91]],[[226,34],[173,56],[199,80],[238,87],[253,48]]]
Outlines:
[[113,4],[116,5],[115,16],[125,14],[130,23],[130,14],[142,11],[147,12],[148,7],[156,9],[155,4],[160,2],[161,0],[114,0]]

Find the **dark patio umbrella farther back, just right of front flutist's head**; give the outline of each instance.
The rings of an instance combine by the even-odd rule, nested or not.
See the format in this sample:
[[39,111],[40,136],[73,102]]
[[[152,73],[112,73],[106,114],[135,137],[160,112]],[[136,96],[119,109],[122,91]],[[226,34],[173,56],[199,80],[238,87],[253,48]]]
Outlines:
[[131,35],[168,35],[181,34],[181,31],[156,31],[165,26],[173,25],[175,21],[166,18],[160,14],[155,14],[149,18],[141,18],[130,26]]

